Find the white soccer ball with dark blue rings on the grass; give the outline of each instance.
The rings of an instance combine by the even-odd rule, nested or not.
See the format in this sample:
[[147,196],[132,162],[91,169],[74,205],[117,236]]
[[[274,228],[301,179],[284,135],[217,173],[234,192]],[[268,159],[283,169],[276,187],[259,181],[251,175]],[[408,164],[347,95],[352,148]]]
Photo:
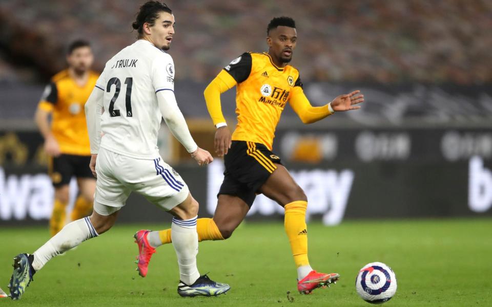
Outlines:
[[396,293],[396,275],[382,262],[365,265],[355,280],[357,294],[368,303],[382,304]]

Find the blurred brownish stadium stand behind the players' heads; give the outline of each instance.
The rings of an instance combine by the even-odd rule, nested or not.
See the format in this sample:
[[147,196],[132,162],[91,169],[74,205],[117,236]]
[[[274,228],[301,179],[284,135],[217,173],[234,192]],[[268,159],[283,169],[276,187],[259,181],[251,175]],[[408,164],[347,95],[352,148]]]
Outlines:
[[[489,0],[167,1],[178,80],[208,81],[245,51],[267,49],[274,16],[297,21],[293,64],[309,81],[484,84],[492,81]],[[142,1],[2,0],[0,82],[39,82],[89,39],[97,70],[134,41]]]

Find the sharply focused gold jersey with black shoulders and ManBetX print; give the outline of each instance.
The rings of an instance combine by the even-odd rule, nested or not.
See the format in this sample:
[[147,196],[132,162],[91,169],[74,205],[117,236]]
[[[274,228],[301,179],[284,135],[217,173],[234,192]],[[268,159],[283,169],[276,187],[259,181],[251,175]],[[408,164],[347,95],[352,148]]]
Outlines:
[[293,95],[304,95],[299,71],[291,65],[277,67],[268,53],[243,53],[224,70],[237,82],[237,126],[232,140],[261,143],[272,150],[286,103]]

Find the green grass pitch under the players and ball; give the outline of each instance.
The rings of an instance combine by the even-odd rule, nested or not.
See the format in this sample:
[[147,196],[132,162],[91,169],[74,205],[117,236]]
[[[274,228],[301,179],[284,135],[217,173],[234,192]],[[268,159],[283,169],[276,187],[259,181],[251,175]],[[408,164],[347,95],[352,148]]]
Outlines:
[[[312,295],[296,292],[296,271],[283,225],[247,223],[227,242],[200,243],[201,273],[232,289],[214,298],[181,298],[172,246],[159,248],[141,278],[133,260],[132,235],[141,227],[120,225],[57,257],[34,276],[22,300],[0,305],[40,306],[368,306],[355,292],[358,270],[373,261],[391,266],[398,279],[386,306],[490,306],[492,220],[310,223],[312,266],[338,272],[341,280]],[[169,226],[169,225],[168,225]],[[151,228],[152,228],[151,227]],[[32,252],[48,239],[42,228],[0,228],[0,287],[11,274],[12,257]],[[290,291],[292,302],[286,294]]]

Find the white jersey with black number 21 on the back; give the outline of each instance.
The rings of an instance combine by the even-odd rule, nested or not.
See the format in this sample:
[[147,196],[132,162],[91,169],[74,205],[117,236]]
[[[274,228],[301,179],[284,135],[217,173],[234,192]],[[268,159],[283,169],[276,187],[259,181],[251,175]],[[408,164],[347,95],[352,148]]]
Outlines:
[[174,92],[172,57],[139,39],[106,63],[96,87],[105,92],[100,147],[136,159],[159,157],[156,93]]

